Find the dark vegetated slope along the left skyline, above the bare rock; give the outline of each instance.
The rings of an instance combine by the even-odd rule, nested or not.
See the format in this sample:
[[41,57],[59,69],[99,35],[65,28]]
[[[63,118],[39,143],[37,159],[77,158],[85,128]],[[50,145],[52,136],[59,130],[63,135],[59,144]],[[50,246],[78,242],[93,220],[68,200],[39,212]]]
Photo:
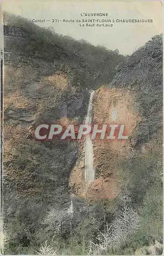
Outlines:
[[115,67],[125,59],[118,50],[111,51],[103,46],[93,46],[84,39],[63,36],[50,27],[41,28],[21,16],[5,12],[4,24],[4,35],[17,37],[14,45],[10,38],[11,45],[8,44],[7,51],[14,50],[28,59],[37,58],[48,62],[58,60],[64,65],[85,69],[85,72],[93,75],[97,85],[112,81]]

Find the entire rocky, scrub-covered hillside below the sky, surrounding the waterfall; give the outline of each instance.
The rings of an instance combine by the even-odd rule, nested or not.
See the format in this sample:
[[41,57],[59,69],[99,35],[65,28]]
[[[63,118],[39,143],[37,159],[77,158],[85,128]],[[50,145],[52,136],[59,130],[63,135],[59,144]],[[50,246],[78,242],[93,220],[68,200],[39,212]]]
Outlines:
[[[4,254],[161,254],[162,36],[124,57],[6,13],[4,44]],[[92,90],[129,139],[93,142],[86,188],[84,141],[33,133],[83,123]]]

